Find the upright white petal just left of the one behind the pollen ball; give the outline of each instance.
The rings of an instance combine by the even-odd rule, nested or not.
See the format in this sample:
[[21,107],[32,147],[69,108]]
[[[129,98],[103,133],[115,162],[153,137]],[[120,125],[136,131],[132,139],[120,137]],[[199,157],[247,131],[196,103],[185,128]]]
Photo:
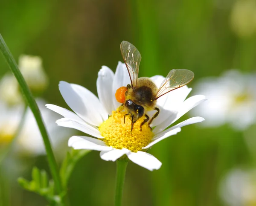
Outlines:
[[106,66],[102,66],[97,78],[97,92],[100,103],[105,107],[105,110],[108,111],[109,115],[115,110],[112,98],[113,79],[113,71]]

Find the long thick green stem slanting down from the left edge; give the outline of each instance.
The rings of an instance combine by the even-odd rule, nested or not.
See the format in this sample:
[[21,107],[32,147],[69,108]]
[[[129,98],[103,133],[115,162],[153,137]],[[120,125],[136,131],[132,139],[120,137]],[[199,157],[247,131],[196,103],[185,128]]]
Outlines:
[[52,178],[54,180],[55,186],[56,186],[56,191],[58,194],[61,194],[63,191],[62,185],[61,185],[61,178],[58,173],[58,166],[54,157],[54,154],[52,152],[52,147],[51,143],[49,141],[49,137],[46,131],[46,128],[44,126],[43,119],[41,117],[41,113],[38,109],[38,105],[35,102],[35,99],[32,96],[31,91],[29,90],[28,85],[26,84],[22,74],[20,73],[20,70],[18,69],[18,66],[9,51],[9,48],[7,47],[5,41],[3,40],[2,35],[0,34],[0,50],[3,53],[3,56],[5,57],[7,64],[9,65],[10,69],[12,70],[12,73],[15,75],[15,78],[17,79],[18,83],[20,84],[21,91],[23,93],[23,96],[30,107],[32,113],[35,116],[36,122],[38,124],[38,128],[41,132],[41,135],[44,140],[44,146],[45,150],[47,152],[47,159],[49,162],[49,168],[52,173]]

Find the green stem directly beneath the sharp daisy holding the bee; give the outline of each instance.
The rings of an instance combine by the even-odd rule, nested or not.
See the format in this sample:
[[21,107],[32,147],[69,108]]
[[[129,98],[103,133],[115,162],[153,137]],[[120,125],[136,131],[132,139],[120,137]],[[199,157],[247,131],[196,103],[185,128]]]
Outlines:
[[115,206],[122,205],[122,194],[125,183],[125,171],[127,167],[127,160],[116,160],[116,196]]

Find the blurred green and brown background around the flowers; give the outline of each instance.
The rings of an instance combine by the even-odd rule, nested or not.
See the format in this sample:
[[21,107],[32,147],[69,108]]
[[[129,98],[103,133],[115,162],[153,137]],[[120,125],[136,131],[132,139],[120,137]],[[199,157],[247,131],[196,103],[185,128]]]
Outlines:
[[[256,32],[244,34],[233,29],[230,19],[235,3],[1,0],[0,33],[16,60],[20,54],[41,56],[49,76],[43,97],[67,108],[58,82],[80,84],[96,93],[101,66],[115,71],[118,61],[122,61],[119,45],[123,40],[134,44],[142,54],[140,76],[165,76],[173,68],[186,68],[195,73],[189,84],[193,87],[199,78],[218,76],[224,70],[255,70]],[[0,77],[7,71],[1,55]],[[228,125],[217,129],[187,126],[154,145],[151,154],[163,163],[157,171],[128,164],[124,206],[222,206],[218,187],[223,175],[235,166],[256,162],[243,132],[233,131]],[[49,171],[44,156],[23,164],[26,169],[20,176],[28,179],[33,165]],[[113,205],[115,174],[115,162],[101,160],[97,151],[87,154],[71,176],[70,205]],[[21,189],[16,180],[2,179],[6,204],[47,204],[37,194]]]

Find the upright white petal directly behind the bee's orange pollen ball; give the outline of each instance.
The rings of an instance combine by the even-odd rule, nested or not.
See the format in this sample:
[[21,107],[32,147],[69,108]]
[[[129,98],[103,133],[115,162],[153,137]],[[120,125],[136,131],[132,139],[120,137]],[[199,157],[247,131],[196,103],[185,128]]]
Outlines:
[[114,104],[115,110],[121,105],[121,103],[116,101],[116,97],[115,97],[116,90],[119,87],[126,87],[127,84],[131,84],[127,68],[125,64],[119,61],[116,67],[116,73],[113,80],[113,90],[112,90],[112,98],[113,98],[113,104]]

